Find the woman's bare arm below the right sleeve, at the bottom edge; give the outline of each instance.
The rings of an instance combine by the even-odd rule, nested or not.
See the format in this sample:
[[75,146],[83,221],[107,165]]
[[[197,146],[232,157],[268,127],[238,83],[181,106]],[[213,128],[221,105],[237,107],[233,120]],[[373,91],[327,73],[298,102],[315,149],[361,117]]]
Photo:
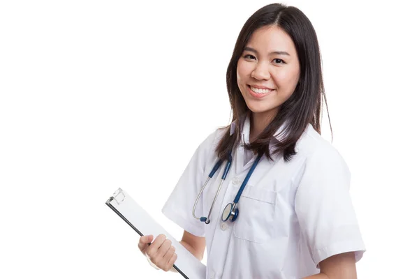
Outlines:
[[355,256],[344,252],[320,262],[320,273],[303,279],[356,279]]

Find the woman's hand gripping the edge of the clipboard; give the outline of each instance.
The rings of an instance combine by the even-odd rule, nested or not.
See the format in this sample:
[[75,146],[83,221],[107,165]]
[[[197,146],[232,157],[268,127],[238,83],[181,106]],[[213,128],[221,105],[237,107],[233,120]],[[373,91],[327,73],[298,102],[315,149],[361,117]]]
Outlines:
[[[172,241],[166,239],[164,234],[159,234],[156,239],[153,240],[152,235],[141,236],[138,242],[138,248],[142,254],[144,254],[152,264],[163,269],[163,271],[170,271],[173,264],[177,259],[175,254],[175,247],[172,246]],[[152,242],[151,244],[149,244]]]

